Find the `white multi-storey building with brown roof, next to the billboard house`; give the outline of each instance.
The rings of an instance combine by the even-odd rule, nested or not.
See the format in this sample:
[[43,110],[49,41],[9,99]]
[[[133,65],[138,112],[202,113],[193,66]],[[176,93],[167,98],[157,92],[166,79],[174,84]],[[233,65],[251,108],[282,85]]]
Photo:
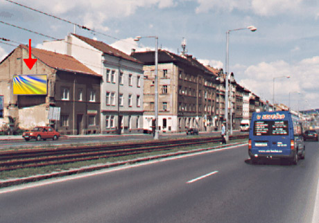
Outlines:
[[104,42],[76,34],[44,42],[50,51],[75,57],[103,76],[101,82],[101,132],[143,132],[143,64]]

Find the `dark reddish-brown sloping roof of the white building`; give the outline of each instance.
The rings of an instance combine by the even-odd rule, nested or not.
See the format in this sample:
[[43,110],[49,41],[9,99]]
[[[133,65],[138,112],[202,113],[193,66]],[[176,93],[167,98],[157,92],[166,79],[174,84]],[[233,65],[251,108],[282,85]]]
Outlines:
[[94,39],[89,39],[87,37],[83,37],[81,35],[77,35],[74,33],[72,33],[72,35],[74,35],[75,37],[78,37],[78,39],[81,39],[82,41],[86,42],[87,44],[93,46],[98,51],[102,51],[103,53],[106,53],[108,55],[112,55],[115,57],[121,57],[125,60],[130,60],[132,62],[137,62],[137,63],[141,64],[141,62],[139,60],[135,59],[134,57],[131,57],[130,55],[127,55],[126,53],[123,53],[122,51],[119,51],[117,48],[113,48],[112,46],[107,45],[104,42],[97,41]]

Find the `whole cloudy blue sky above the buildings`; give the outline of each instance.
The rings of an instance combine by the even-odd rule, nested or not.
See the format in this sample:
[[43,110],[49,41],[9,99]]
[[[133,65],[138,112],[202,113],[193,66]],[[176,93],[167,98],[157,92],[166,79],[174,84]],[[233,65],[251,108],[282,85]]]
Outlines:
[[[95,38],[130,54],[132,48],[187,52],[202,64],[225,71],[227,30],[229,67],[236,82],[263,100],[292,109],[319,109],[319,1],[317,0],[21,0],[24,6],[96,30],[76,28],[78,35]],[[64,39],[74,25],[0,0],[0,21],[48,35],[44,37],[0,23],[0,38],[17,46],[41,47],[44,40]],[[102,34],[101,34],[102,33]],[[0,59],[15,46],[0,42]],[[289,78],[286,78],[289,77]],[[275,81],[274,81],[275,80]],[[275,84],[274,84],[275,83]],[[289,100],[290,98],[290,100]]]

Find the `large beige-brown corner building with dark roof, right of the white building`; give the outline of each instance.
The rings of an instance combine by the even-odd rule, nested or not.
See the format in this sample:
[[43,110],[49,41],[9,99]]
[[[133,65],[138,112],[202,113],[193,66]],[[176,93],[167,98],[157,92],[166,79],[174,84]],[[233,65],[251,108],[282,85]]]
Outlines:
[[[155,52],[135,52],[144,62],[144,129],[151,130],[155,119]],[[158,53],[160,132],[184,132],[197,127],[214,130],[216,116],[216,75],[191,55]]]

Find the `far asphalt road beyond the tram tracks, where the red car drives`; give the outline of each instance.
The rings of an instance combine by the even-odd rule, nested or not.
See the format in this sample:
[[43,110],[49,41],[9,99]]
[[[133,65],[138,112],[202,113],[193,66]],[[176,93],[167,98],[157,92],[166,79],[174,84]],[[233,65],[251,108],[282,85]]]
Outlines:
[[[220,136],[220,132],[201,132],[200,136]],[[247,132],[234,132],[234,134],[247,134]],[[184,134],[161,134],[160,139],[175,139],[182,137],[190,137]],[[70,145],[76,143],[96,143],[96,142],[107,142],[107,141],[135,141],[143,139],[153,139],[152,134],[128,134],[128,135],[107,135],[103,136],[79,136],[70,138],[60,138],[58,141],[52,141],[48,139],[46,141],[24,141],[21,136],[21,140],[10,140],[10,141],[0,141],[1,148],[19,148],[19,147],[34,147],[39,145]]]

